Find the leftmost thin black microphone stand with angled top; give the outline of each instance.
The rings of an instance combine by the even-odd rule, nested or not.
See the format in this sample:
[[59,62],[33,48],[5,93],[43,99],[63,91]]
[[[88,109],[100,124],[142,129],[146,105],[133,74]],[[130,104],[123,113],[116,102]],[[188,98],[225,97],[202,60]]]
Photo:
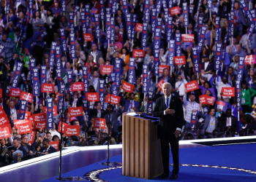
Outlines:
[[[79,79],[81,79],[82,76],[80,76],[80,78],[78,78],[78,81]],[[78,82],[76,81],[76,82]],[[74,82],[73,84],[75,84],[76,82]],[[73,85],[72,84],[72,85]],[[63,101],[62,101],[62,111],[61,111],[61,145],[60,145],[60,148],[59,148],[59,151],[60,151],[60,154],[59,154],[59,178],[56,178],[57,180],[59,181],[65,181],[67,178],[70,178],[70,177],[62,177],[61,178],[61,161],[62,161],[62,155],[61,155],[61,151],[62,151],[62,142],[63,142],[63,137],[62,137],[62,127],[63,127],[63,119],[64,119],[64,100],[65,100],[65,93],[67,90],[69,90],[70,87],[72,87],[72,85],[69,85],[69,87],[65,88],[64,90],[60,90],[60,92],[63,93]]]

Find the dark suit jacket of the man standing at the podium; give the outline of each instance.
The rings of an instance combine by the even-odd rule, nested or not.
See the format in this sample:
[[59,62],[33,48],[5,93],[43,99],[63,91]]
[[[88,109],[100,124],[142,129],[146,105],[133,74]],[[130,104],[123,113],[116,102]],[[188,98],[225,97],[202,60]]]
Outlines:
[[164,111],[166,109],[165,106],[165,95],[161,98],[158,98],[156,101],[156,106],[154,107],[153,116],[159,117],[159,125],[162,128],[167,128],[169,135],[173,135],[176,131],[176,128],[182,128],[184,122],[184,112],[182,108],[182,103],[179,98],[175,96],[171,96],[170,98],[170,109],[175,110],[175,114],[166,114],[164,115]]

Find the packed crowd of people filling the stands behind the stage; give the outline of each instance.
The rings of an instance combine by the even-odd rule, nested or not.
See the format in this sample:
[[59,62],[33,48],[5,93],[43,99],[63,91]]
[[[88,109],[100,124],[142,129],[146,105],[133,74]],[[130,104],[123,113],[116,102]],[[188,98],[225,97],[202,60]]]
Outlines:
[[[146,0],[127,1],[129,13],[134,16],[138,23],[145,20],[144,3]],[[29,83],[28,92],[33,93],[33,85],[30,83],[31,69],[30,59],[36,58],[37,67],[47,66],[47,80],[49,84],[55,84],[54,93],[39,95],[34,98],[33,103],[29,103],[26,111],[31,114],[43,112],[45,98],[52,97],[53,100],[59,97],[59,87],[56,79],[55,68],[49,66],[50,46],[52,41],[62,44],[59,38],[59,29],[64,28],[67,37],[67,47],[69,48],[69,21],[67,13],[64,15],[60,8],[61,1],[33,1],[34,9],[28,12],[27,1],[12,1],[10,12],[5,13],[6,7],[4,1],[1,3],[0,16],[0,44],[4,45],[4,52],[1,52],[0,58],[0,84],[2,89],[2,98],[0,105],[4,108],[12,127],[11,138],[0,140],[0,166],[5,166],[20,162],[22,160],[38,157],[43,154],[50,154],[56,151],[50,145],[50,141],[60,141],[61,133],[58,132],[59,121],[61,116],[59,113],[54,116],[53,129],[37,130],[34,142],[29,143],[28,135],[19,135],[19,130],[14,127],[13,120],[17,119],[17,110],[20,105],[19,98],[12,98],[5,95],[7,88],[10,87],[14,80],[14,72],[17,63],[24,63],[22,72]],[[108,7],[108,0],[105,0],[105,8]],[[182,12],[182,1],[173,1],[173,7],[180,7]],[[64,99],[64,122],[72,125],[80,125],[80,135],[65,136],[64,141],[59,146],[96,146],[108,144],[118,144],[122,142],[121,135],[121,114],[127,111],[147,111],[148,96],[144,97],[142,92],[141,74],[143,65],[148,65],[148,71],[151,71],[149,91],[153,92],[153,100],[159,98],[163,93],[157,87],[157,83],[163,79],[172,85],[172,95],[181,98],[184,106],[184,127],[182,129],[182,140],[203,139],[203,138],[222,138],[233,136],[255,135],[255,104],[256,104],[256,64],[253,62],[245,66],[244,75],[241,82],[241,107],[237,107],[236,98],[222,96],[222,87],[235,87],[236,75],[238,70],[239,56],[255,55],[255,34],[248,33],[249,20],[241,8],[239,1],[235,1],[233,7],[230,0],[213,0],[211,9],[208,9],[207,1],[203,0],[200,4],[199,12],[196,9],[199,1],[187,1],[188,7],[194,6],[194,13],[189,13],[189,26],[184,27],[184,16],[182,14],[173,15],[172,39],[176,33],[193,34],[195,41],[185,47],[182,43],[182,55],[186,58],[185,65],[172,66],[171,70],[165,68],[159,76],[154,75],[154,35],[151,31],[151,22],[148,23],[148,37],[146,47],[141,47],[140,31],[135,31],[134,39],[127,38],[127,23],[124,16],[124,2],[117,1],[117,10],[114,26],[114,41],[108,44],[105,27],[100,31],[100,39],[95,38],[94,15],[89,14],[89,28],[87,33],[93,35],[93,41],[85,41],[83,39],[83,31],[80,28],[80,12],[86,4],[90,5],[90,9],[97,9],[99,13],[99,1],[78,1],[78,6],[71,4],[71,8],[67,11],[72,12],[77,9],[75,15],[75,52],[76,58],[71,60],[69,52],[62,52],[61,63],[64,71],[72,70],[73,80],[80,80],[80,74],[83,66],[89,70],[89,92],[99,92],[99,79],[106,79],[109,75],[100,73],[100,66],[115,66],[116,58],[121,60],[121,76],[120,85],[127,81],[127,72],[129,70],[129,58],[132,58],[132,50],[146,51],[144,58],[135,58],[135,76],[136,83],[133,92],[118,87],[118,95],[121,97],[120,103],[110,105],[107,103],[107,95],[110,92],[110,84],[105,87],[104,106],[99,102],[93,102],[90,105],[90,117],[86,118],[85,114],[79,117],[69,117],[67,108],[82,106],[84,92],[67,92]],[[150,11],[157,7],[156,0],[150,0]],[[256,8],[255,1],[246,1],[249,9]],[[214,52],[215,52],[215,31],[216,17],[220,17],[221,39],[224,41],[228,33],[227,14],[233,9],[235,15],[235,27],[233,37],[227,39],[227,47],[225,60],[222,60],[222,71],[214,70]],[[164,12],[159,13],[159,17],[164,17]],[[151,13],[150,13],[151,14]],[[207,27],[205,41],[200,52],[200,73],[194,73],[194,65],[192,62],[192,46],[197,45],[197,20],[203,17],[203,24]],[[26,18],[26,19],[25,19]],[[105,23],[105,21],[103,21]],[[102,29],[104,31],[102,31]],[[20,37],[20,31],[23,31]],[[46,31],[47,36],[44,39],[37,39],[38,35]],[[159,48],[160,65],[169,65],[168,48],[165,37],[165,24],[162,25],[161,44]],[[36,45],[31,48],[31,42],[35,41]],[[187,92],[185,84],[197,80],[199,89]],[[23,82],[20,78],[18,84],[24,90]],[[214,106],[208,104],[200,104],[199,96],[208,95],[215,98]],[[217,100],[225,101],[228,106],[223,112],[217,109]],[[54,103],[58,105],[58,101]],[[155,103],[153,103],[154,109]],[[191,114],[197,113],[196,124],[191,127]],[[106,127],[94,128],[94,118],[105,118]],[[110,120],[109,120],[110,118]],[[110,133],[108,133],[108,123],[110,122]]]

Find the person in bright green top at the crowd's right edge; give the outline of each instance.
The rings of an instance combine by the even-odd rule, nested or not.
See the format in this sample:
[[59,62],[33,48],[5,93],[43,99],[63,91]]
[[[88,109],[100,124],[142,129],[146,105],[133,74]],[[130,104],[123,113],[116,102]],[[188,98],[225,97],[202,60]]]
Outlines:
[[252,97],[256,95],[256,90],[247,86],[246,81],[241,82],[241,106],[243,108],[244,114],[251,112],[252,107]]

